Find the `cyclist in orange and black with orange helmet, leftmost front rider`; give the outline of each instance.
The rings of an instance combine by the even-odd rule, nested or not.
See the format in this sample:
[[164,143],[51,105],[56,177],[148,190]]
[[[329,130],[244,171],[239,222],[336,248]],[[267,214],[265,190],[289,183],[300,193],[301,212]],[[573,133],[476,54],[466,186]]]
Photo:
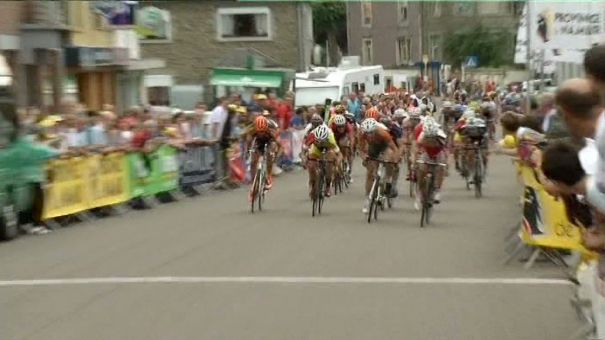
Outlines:
[[263,116],[258,116],[254,119],[254,125],[245,132],[245,140],[247,145],[247,150],[250,150],[252,147],[252,143],[254,142],[255,148],[254,153],[252,154],[252,160],[250,164],[250,175],[252,178],[255,176],[258,158],[265,152],[266,148],[269,148],[271,151],[274,148],[277,148],[276,152],[268,152],[267,155],[267,185],[266,189],[271,190],[273,187],[273,161],[275,158],[275,154],[281,151],[281,143],[278,142],[278,132],[276,129],[272,129],[270,122],[267,118]]

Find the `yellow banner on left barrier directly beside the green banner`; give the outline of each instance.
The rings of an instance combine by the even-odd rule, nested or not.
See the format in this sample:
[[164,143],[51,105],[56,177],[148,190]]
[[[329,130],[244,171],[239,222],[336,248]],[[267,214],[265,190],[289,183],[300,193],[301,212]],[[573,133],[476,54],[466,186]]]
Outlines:
[[123,153],[87,158],[88,208],[99,208],[129,199],[127,159]]

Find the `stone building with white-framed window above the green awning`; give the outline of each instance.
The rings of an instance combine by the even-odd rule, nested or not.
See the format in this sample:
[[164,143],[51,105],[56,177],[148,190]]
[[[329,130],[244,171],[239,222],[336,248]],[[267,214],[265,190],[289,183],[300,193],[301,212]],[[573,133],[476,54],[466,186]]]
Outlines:
[[[211,89],[212,69],[240,51],[254,51],[273,66],[305,70],[311,63],[313,22],[303,2],[158,1],[142,25],[149,39],[141,40],[144,57],[166,61],[164,69],[147,77],[150,96],[165,97],[172,85]],[[142,4],[144,6],[144,4]],[[155,19],[154,19],[155,18]],[[158,25],[151,21],[160,20]],[[158,32],[153,33],[152,27]],[[161,32],[160,32],[161,31]],[[241,67],[245,67],[241,65]],[[166,102],[162,98],[158,102]]]

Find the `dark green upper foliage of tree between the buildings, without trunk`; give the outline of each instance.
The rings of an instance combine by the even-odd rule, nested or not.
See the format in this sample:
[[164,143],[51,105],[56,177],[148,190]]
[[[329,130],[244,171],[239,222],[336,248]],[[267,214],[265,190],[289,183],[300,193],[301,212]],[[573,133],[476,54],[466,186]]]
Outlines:
[[313,33],[315,41],[324,41],[328,34],[346,32],[347,9],[342,1],[319,1],[312,3]]

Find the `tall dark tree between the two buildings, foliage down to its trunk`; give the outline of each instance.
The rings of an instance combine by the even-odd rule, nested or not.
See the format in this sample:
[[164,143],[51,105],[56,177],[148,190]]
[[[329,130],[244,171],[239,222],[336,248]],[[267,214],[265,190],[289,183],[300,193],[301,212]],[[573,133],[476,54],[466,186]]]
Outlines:
[[347,10],[341,1],[320,1],[312,4],[313,35],[317,43],[328,42],[332,64],[339,63],[339,50],[347,48]]

